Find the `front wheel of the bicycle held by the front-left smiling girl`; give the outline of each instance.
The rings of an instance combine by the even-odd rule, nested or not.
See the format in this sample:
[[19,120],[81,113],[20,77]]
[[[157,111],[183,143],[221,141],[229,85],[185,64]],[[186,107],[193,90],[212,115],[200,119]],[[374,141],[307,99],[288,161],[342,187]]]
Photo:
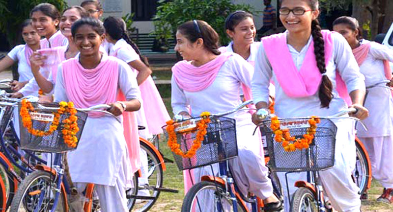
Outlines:
[[57,204],[56,179],[52,173],[34,171],[20,184],[11,203],[10,212],[50,212],[56,207],[56,212],[66,212],[66,194],[60,190]]

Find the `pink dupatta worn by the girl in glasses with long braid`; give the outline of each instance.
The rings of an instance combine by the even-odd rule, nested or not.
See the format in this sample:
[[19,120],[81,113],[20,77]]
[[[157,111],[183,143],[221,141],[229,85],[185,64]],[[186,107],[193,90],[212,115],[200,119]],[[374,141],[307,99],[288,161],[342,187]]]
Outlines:
[[[321,32],[325,41],[325,64],[327,65],[333,52],[332,34],[336,32],[329,30],[322,30]],[[266,55],[276,74],[277,80],[284,93],[289,97],[314,95],[318,91],[322,81],[322,74],[316,65],[314,42],[311,41],[303,65],[298,71],[289,52],[286,36],[287,33],[284,32],[262,38],[263,47],[265,48]],[[336,85],[337,93],[348,103],[348,100],[350,100],[349,94],[338,72],[336,72]]]

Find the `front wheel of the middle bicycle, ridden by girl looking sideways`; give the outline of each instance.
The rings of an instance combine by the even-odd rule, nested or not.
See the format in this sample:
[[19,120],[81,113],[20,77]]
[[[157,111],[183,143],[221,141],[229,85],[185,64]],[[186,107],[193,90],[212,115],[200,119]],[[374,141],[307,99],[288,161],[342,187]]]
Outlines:
[[[237,200],[237,211],[247,212],[240,200]],[[220,185],[202,181],[195,184],[187,193],[181,207],[182,212],[233,212],[233,201],[225,188]]]

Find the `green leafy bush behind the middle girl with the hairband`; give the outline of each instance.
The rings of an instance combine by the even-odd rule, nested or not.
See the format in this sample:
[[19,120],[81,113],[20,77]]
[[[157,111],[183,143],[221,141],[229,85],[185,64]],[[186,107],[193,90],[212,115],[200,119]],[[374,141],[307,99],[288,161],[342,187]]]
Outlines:
[[233,4],[231,0],[160,0],[154,17],[157,39],[172,38],[178,25],[191,20],[209,23],[220,35],[222,44],[229,43],[225,33],[225,18],[236,10],[253,12],[248,4]]

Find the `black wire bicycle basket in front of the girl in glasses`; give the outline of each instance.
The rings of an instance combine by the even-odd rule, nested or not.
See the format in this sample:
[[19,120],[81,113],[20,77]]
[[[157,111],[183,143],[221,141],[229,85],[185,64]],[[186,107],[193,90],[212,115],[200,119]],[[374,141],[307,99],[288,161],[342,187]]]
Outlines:
[[[281,129],[288,128],[291,136],[302,138],[309,128],[308,118],[279,119]],[[308,149],[287,152],[281,142],[274,140],[270,128],[271,120],[260,125],[262,137],[266,137],[270,156],[269,166],[278,172],[319,171],[330,168],[335,161],[336,125],[327,118],[320,118],[316,132]]]

